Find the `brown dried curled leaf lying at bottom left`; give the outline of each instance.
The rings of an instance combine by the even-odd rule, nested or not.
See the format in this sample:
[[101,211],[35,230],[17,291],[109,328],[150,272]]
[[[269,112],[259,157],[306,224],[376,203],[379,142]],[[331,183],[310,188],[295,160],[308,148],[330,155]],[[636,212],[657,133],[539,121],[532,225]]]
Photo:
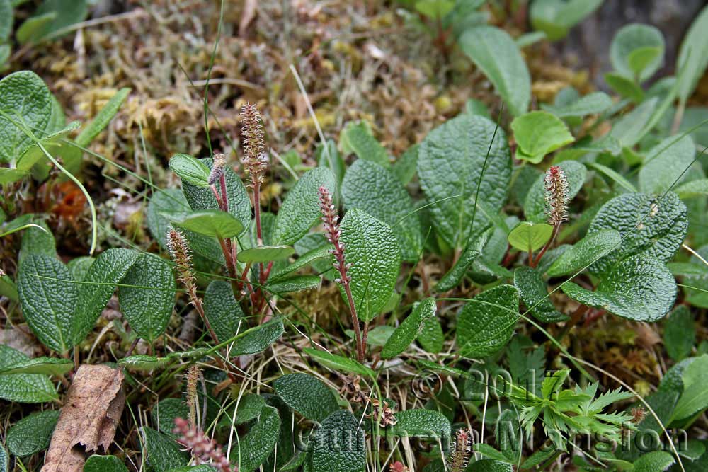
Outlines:
[[[108,451],[125,404],[123,373],[82,365],[64,399],[42,472],[81,472],[85,451]],[[83,448],[81,446],[84,446]]]

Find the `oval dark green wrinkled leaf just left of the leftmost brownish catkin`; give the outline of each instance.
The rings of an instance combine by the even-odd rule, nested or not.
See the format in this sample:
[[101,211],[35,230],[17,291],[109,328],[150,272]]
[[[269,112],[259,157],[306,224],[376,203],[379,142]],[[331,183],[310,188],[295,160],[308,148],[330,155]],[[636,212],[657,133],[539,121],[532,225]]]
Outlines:
[[120,311],[133,332],[152,343],[172,316],[177,293],[172,266],[154,254],[143,253],[120,284]]

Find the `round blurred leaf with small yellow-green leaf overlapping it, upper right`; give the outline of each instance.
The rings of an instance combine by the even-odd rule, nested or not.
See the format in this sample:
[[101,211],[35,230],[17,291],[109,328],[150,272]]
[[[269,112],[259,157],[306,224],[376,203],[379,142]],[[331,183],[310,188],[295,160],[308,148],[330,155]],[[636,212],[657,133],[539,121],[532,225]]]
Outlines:
[[664,39],[651,25],[624,25],[612,38],[610,62],[615,71],[641,83],[663,64]]

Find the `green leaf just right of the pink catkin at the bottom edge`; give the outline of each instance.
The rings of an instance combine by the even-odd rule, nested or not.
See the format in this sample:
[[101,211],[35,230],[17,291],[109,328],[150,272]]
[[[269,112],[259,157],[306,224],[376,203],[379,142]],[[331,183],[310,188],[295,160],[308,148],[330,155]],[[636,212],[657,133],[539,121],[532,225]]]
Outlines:
[[280,434],[280,416],[278,410],[264,406],[256,425],[246,436],[232,446],[233,464],[239,466],[240,472],[252,472],[268,459],[275,448]]

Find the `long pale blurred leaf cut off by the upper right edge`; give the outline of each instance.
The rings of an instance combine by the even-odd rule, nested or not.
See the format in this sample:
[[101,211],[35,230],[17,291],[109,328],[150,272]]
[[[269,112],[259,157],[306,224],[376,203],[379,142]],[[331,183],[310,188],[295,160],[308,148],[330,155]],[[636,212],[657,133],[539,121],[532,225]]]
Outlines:
[[682,103],[692,95],[708,66],[708,7],[695,18],[681,42],[676,60],[678,97]]

